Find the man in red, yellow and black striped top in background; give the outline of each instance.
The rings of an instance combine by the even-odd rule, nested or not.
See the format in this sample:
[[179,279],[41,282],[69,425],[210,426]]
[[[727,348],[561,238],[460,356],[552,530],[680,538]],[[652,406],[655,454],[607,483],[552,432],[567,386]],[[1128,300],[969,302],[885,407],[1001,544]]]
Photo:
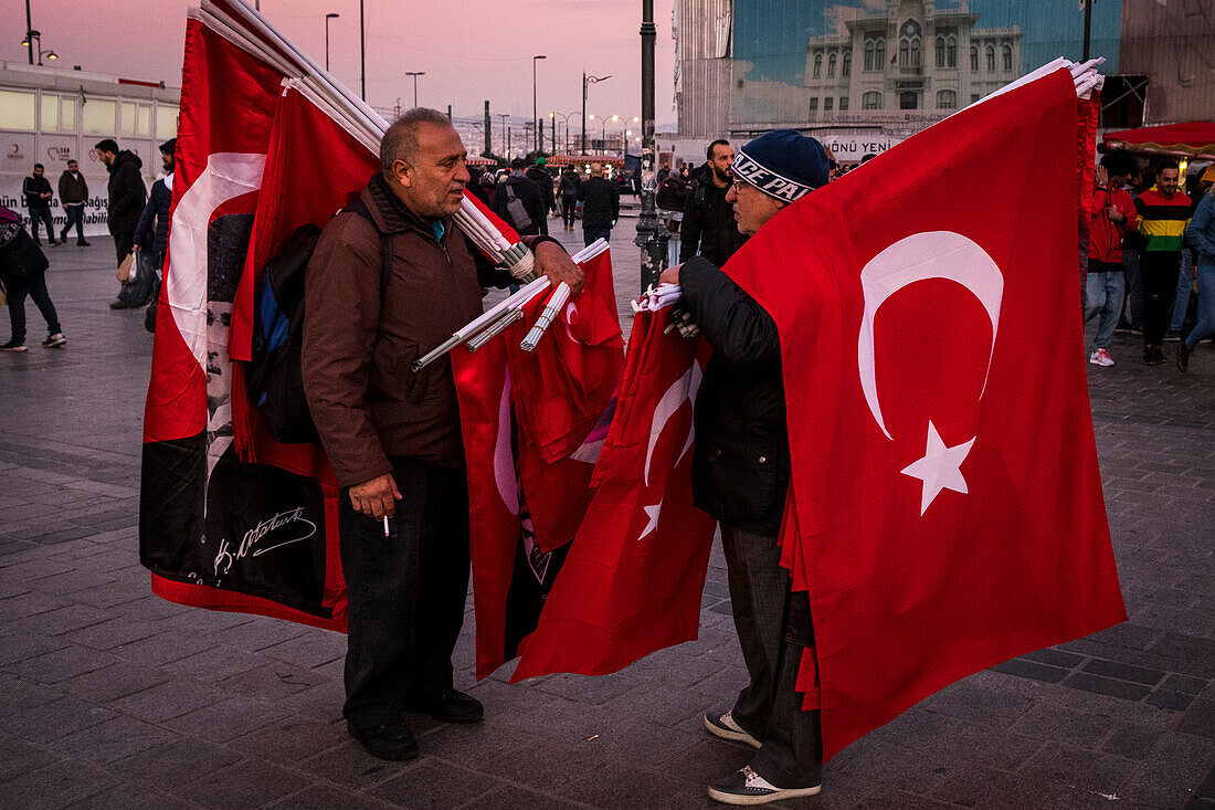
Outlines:
[[1155,169],[1155,185],[1135,198],[1140,216],[1143,252],[1140,272],[1143,276],[1143,362],[1164,362],[1160,344],[1172,314],[1172,297],[1181,269],[1181,240],[1189,219],[1189,197],[1177,190],[1181,171],[1177,162],[1162,161]]

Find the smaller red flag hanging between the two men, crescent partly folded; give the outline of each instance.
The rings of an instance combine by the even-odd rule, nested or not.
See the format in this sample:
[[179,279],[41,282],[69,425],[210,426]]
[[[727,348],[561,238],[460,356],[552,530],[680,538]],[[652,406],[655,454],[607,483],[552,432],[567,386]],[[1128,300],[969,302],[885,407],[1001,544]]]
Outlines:
[[513,681],[603,675],[696,637],[713,521],[693,506],[691,411],[707,348],[669,310],[633,322],[595,493]]

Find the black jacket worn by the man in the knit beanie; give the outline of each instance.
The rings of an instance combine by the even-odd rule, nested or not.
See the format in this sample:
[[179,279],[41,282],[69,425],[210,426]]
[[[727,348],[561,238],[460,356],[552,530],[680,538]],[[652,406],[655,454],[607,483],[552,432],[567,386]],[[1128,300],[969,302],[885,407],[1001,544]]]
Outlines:
[[718,521],[775,536],[791,471],[776,324],[702,258],[683,265],[679,285],[713,347],[694,414],[696,506]]

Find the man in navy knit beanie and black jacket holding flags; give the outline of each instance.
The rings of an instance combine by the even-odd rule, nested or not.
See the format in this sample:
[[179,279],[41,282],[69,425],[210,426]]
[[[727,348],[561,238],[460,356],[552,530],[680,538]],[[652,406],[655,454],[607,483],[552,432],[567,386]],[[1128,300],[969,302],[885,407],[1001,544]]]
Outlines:
[[[776,130],[740,148],[731,174],[725,199],[738,230],[751,236],[826,185],[827,158],[814,139]],[[729,711],[705,716],[705,727],[759,749],[708,795],[727,804],[813,795],[823,763],[819,711],[802,710],[795,691],[803,649],[813,646],[809,601],[790,592],[776,544],[791,473],[776,324],[703,257],[669,268],[662,281],[682,286],[713,347],[694,412],[693,491],[696,506],[720,522],[734,624],[751,677]]]

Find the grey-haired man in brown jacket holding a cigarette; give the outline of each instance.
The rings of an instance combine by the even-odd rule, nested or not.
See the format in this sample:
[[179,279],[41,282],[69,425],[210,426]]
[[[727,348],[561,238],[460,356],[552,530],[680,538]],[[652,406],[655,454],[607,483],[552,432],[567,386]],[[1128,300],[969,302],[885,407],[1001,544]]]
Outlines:
[[[304,389],[341,488],[343,714],[380,759],[418,753],[403,711],[482,716],[452,685],[469,573],[456,383],[446,359],[409,369],[481,314],[482,287],[512,282],[451,219],[469,181],[465,154],[446,116],[406,113],[385,133],[382,171],[360,195],[366,215],[329,221],[305,282]],[[555,240],[526,242],[539,272],[581,291],[582,274]]]

